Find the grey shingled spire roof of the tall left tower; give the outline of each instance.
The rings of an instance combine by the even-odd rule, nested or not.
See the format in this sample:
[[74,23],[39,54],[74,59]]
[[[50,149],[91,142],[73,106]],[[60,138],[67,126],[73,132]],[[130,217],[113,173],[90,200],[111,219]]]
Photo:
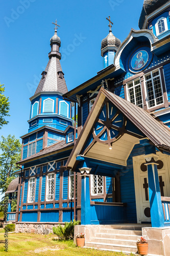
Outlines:
[[62,72],[60,60],[56,56],[52,56],[45,69],[46,75],[42,76],[34,95],[41,92],[67,93],[65,79],[59,77],[59,72]]

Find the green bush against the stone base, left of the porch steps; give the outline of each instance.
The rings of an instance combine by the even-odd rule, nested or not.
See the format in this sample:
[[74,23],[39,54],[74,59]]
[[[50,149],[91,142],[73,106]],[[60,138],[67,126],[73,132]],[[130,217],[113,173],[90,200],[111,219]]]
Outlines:
[[80,225],[81,221],[70,221],[65,222],[64,226],[62,227],[61,224],[59,224],[58,227],[53,227],[54,234],[57,234],[58,238],[60,240],[69,240],[74,238],[74,226]]

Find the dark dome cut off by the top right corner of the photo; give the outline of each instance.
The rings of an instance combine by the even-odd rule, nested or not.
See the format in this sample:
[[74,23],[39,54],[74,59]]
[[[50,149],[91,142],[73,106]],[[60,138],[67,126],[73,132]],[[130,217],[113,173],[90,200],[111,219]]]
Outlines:
[[167,0],[144,0],[143,8],[139,18],[139,28],[142,29],[146,15],[154,12],[156,9],[166,4],[167,2]]

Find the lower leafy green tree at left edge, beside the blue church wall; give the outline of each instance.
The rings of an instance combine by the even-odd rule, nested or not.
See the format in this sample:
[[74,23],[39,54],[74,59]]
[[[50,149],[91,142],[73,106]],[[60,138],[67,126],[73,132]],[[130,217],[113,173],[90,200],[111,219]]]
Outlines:
[[2,136],[0,142],[0,189],[2,194],[7,190],[10,182],[16,178],[16,162],[20,160],[21,144],[15,136],[8,135],[7,138]]

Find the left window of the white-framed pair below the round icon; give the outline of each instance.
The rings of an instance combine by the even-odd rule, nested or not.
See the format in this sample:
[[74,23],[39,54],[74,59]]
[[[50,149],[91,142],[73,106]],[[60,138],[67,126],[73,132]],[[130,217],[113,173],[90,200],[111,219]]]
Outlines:
[[127,84],[128,100],[133,104],[143,107],[140,79],[136,79]]

